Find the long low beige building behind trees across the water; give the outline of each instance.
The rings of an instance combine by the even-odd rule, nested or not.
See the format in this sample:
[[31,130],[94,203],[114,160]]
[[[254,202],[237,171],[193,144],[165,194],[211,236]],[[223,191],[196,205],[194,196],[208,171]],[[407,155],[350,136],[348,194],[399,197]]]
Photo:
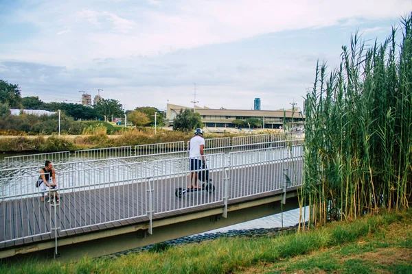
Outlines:
[[[173,119],[181,110],[185,110],[187,107],[183,105],[172,105],[168,103],[168,110],[166,112],[166,123],[173,124]],[[193,109],[193,108],[190,108]],[[202,123],[205,127],[236,127],[233,125],[233,120],[246,120],[248,118],[257,118],[264,121],[264,128],[278,129],[282,128],[284,123],[284,117],[286,122],[292,121],[296,127],[304,125],[304,116],[298,112],[295,108],[293,113],[290,110],[225,110],[225,109],[212,109],[201,108],[196,105],[196,112],[201,114]],[[263,124],[263,123],[262,123]]]

